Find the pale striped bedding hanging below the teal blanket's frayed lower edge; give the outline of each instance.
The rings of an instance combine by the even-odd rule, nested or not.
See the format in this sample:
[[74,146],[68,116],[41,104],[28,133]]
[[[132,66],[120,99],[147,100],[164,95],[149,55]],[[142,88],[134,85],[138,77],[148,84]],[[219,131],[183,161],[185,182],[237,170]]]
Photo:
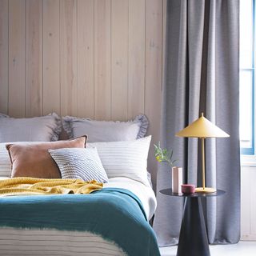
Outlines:
[[0,255],[124,256],[113,242],[89,232],[0,229]]

